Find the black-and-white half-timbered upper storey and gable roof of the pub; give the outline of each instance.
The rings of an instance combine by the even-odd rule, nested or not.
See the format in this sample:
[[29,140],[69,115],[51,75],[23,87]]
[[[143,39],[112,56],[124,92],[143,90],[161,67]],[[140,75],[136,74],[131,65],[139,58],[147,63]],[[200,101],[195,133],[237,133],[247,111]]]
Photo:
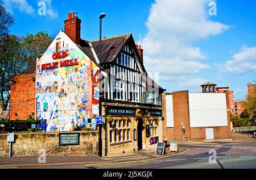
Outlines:
[[[92,41],[97,55],[99,41]],[[143,65],[142,49],[137,48],[131,34],[102,39],[102,68],[108,73],[104,81],[109,102],[146,104],[146,93],[154,94],[153,104],[162,104],[164,91],[150,77]]]

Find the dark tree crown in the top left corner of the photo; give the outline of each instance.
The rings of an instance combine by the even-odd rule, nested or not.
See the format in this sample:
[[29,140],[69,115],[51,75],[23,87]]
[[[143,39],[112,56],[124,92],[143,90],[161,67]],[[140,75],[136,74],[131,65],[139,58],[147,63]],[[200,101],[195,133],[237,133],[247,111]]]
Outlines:
[[0,41],[9,34],[9,27],[14,24],[13,16],[10,13],[6,12],[5,7],[1,5],[2,1],[0,1]]

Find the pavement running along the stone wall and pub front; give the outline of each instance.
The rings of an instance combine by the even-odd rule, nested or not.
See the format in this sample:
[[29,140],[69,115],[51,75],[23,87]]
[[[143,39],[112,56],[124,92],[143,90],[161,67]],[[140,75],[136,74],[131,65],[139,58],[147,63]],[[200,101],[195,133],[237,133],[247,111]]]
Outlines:
[[166,154],[163,156],[155,154],[155,150],[141,150],[130,154],[118,156],[96,157],[96,156],[46,156],[46,163],[39,163],[38,159],[43,160],[42,156],[20,156],[20,157],[0,157],[0,168],[35,168],[43,166],[65,166],[65,165],[89,165],[89,164],[111,164],[117,162],[143,161],[171,156],[187,150],[179,148],[179,152],[169,152],[167,147]]

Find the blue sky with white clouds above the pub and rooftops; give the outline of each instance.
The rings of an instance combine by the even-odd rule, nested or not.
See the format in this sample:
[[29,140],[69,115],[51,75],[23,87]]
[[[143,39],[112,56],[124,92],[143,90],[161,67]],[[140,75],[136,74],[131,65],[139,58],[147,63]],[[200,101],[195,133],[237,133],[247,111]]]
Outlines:
[[[15,19],[10,33],[57,35],[70,12],[82,20],[81,37],[132,33],[144,49],[144,66],[167,92],[200,92],[216,82],[245,99],[247,83],[256,80],[255,0],[57,1],[2,0]],[[46,5],[46,15],[38,13]],[[39,11],[42,12],[42,11]]]

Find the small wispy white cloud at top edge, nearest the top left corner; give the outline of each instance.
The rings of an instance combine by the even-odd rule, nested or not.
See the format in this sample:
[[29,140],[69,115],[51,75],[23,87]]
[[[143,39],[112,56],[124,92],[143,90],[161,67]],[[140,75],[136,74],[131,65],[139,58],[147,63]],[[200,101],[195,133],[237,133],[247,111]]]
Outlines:
[[20,12],[25,12],[28,15],[34,15],[34,8],[28,4],[27,0],[3,0],[5,8],[11,14],[14,14],[14,9]]

